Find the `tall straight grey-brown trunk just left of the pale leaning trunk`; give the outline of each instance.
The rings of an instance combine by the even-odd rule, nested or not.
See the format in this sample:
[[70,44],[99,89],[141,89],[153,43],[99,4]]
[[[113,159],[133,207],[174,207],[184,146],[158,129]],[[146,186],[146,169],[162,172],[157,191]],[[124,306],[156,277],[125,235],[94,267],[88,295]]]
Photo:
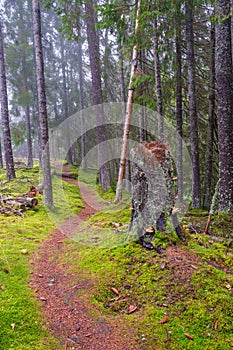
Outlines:
[[93,1],[85,3],[86,12],[86,26],[87,26],[87,40],[89,49],[89,58],[91,65],[92,76],[92,93],[93,102],[96,113],[97,124],[97,139],[98,139],[98,169],[99,169],[99,183],[104,191],[110,187],[110,172],[108,164],[105,163],[105,149],[104,140],[106,139],[106,127],[104,125],[102,88],[101,88],[101,72],[100,72],[100,56],[99,56],[99,36],[96,28],[96,19],[94,12]]

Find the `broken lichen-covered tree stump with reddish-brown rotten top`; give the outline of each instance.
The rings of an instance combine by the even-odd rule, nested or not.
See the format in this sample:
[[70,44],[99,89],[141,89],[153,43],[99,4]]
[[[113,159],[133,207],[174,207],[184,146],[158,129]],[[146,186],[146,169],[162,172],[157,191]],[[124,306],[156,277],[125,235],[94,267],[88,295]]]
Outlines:
[[[171,216],[179,238],[183,233],[174,209],[175,190],[173,161],[167,147],[159,141],[142,142],[131,151],[132,215],[130,230],[136,231],[143,244],[152,229],[165,231],[166,218]],[[152,227],[152,229],[148,229]],[[146,246],[153,249],[151,244]]]

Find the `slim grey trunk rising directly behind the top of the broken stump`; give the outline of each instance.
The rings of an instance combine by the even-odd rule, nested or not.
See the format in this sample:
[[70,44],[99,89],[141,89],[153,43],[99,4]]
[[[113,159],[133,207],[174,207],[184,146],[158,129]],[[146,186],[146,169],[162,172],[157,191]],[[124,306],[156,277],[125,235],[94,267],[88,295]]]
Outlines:
[[154,66],[155,66],[155,82],[156,82],[156,100],[157,100],[157,117],[158,117],[158,138],[164,140],[163,134],[163,100],[162,100],[162,84],[160,74],[159,60],[159,35],[157,18],[154,20]]

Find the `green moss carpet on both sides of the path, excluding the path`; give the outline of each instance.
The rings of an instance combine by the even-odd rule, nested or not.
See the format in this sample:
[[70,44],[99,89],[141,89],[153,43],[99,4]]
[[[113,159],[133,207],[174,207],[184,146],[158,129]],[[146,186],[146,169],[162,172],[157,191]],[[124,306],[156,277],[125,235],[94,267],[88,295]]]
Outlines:
[[[24,172],[19,174],[25,176]],[[34,170],[32,178],[35,176]],[[86,175],[85,180],[95,189]],[[80,208],[78,192],[72,187],[66,191],[67,198],[69,193],[74,207],[77,200]],[[129,219],[129,203],[125,202],[114,210],[96,213],[88,224],[91,229],[97,226],[98,230],[116,230],[116,224],[119,229]],[[160,253],[147,251],[134,241],[96,248],[67,239],[59,260],[67,264],[68,273],[92,280],[86,301],[94,304],[102,317],[111,314],[125,327],[134,327],[140,349],[230,350],[233,218],[213,217],[209,235],[203,234],[206,221],[205,212],[188,213],[183,220],[186,241],[180,242],[168,229],[167,234],[156,236],[156,245],[167,248]],[[0,349],[59,349],[42,326],[38,305],[27,287],[29,254],[51,227],[42,205],[27,212],[26,218],[0,216]],[[29,254],[22,255],[21,249],[27,249]],[[135,311],[130,313],[132,306]]]

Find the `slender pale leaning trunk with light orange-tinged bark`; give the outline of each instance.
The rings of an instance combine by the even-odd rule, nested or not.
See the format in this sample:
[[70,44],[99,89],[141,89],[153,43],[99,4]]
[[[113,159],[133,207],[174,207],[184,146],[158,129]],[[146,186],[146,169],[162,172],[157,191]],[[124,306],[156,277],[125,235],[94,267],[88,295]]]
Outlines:
[[[140,7],[141,7],[141,2],[140,0],[138,0],[135,34],[138,32],[138,28],[139,28]],[[122,151],[121,151],[120,168],[119,168],[116,197],[115,197],[116,203],[122,199],[122,183],[125,175],[130,121],[132,116],[133,100],[134,100],[134,88],[132,87],[132,83],[137,70],[137,65],[138,65],[138,44],[136,43],[133,48],[133,57],[132,57],[132,65],[131,65],[131,72],[130,72],[128,101],[127,101],[127,107],[126,107],[126,117],[125,117],[124,134],[123,134],[123,145],[122,145]]]

